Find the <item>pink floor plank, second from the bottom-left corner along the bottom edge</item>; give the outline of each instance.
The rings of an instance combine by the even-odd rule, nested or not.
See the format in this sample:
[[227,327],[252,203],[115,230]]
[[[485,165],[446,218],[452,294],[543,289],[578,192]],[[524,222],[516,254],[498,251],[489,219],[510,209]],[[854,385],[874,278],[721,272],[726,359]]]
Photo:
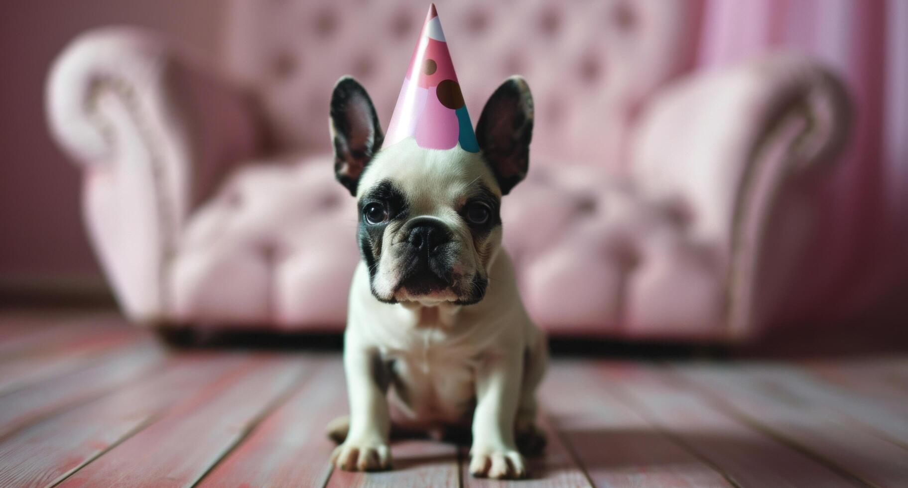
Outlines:
[[61,486],[189,486],[291,393],[309,363],[256,356],[241,372],[200,386],[160,420],[66,478]]

